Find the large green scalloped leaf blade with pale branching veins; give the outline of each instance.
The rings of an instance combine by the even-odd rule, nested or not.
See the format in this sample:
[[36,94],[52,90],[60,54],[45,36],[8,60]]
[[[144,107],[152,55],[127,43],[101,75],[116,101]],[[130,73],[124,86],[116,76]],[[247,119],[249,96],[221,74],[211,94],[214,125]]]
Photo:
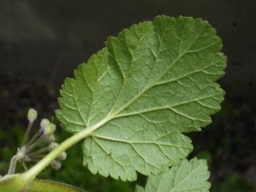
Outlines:
[[90,132],[84,166],[136,180],[177,165],[193,149],[182,132],[201,131],[224,100],[220,38],[207,21],[158,16],[106,45],[66,79],[56,111],[67,131]]

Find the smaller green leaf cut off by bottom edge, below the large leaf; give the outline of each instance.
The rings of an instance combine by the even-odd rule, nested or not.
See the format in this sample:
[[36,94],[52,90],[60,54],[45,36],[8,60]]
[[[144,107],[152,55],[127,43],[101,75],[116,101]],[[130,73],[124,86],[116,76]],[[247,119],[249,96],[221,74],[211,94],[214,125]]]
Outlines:
[[[211,183],[207,182],[210,172],[207,171],[207,160],[182,160],[178,166],[170,170],[148,177],[145,192],[207,192]],[[142,191],[137,186],[137,191]]]

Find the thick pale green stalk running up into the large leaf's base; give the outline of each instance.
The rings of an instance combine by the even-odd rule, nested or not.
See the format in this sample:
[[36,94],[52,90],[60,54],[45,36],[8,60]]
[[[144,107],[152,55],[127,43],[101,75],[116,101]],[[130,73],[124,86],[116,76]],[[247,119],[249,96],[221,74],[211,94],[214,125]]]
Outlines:
[[27,172],[22,173],[23,177],[28,180],[35,178],[39,172],[44,170],[44,168],[48,166],[51,161],[55,160],[55,158],[57,158],[63,151],[73,146],[73,144],[78,143],[83,138],[90,136],[90,134],[93,131],[95,131],[100,126],[104,125],[106,122],[108,122],[109,119],[111,119],[111,117],[103,119],[101,122],[99,122],[96,125],[87,127],[86,129],[84,129],[84,131],[80,131],[74,134],[73,137],[69,137],[67,140],[61,143],[57,148],[55,148],[53,151],[47,154],[43,160],[40,160],[35,166],[33,166]]

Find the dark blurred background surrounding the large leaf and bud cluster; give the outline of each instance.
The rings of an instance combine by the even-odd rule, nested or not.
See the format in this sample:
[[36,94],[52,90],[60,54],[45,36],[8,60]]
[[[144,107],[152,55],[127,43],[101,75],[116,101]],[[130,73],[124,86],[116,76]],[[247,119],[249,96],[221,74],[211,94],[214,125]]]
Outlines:
[[[215,27],[228,57],[218,81],[226,91],[222,110],[212,125],[189,134],[195,146],[189,158],[207,159],[211,191],[256,191],[255,9],[254,0],[0,0],[0,174],[20,147],[28,108],[38,110],[38,119],[55,117],[64,79],[109,36],[156,15],[183,15]],[[58,126],[55,136],[61,142],[70,135]],[[82,166],[81,143],[67,155],[75,158],[38,177],[87,191],[134,191],[146,182],[141,175],[129,183],[91,174]]]

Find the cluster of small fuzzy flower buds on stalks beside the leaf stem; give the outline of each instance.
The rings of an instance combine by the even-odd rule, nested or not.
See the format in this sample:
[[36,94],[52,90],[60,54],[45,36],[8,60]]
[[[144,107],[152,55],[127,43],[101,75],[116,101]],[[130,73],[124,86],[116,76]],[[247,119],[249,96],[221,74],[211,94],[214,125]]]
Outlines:
[[[9,174],[15,173],[15,166],[17,160],[21,162],[22,166],[25,170],[26,168],[26,162],[32,161],[32,162],[38,162],[39,160],[43,159],[46,155],[46,152],[49,153],[54,148],[58,147],[58,143],[55,143],[55,125],[50,123],[48,119],[42,119],[40,123],[40,129],[38,132],[32,137],[32,139],[26,143],[27,137],[32,129],[32,124],[35,119],[37,119],[38,113],[33,108],[29,109],[27,114],[27,119],[29,120],[29,124],[26,130],[25,137],[23,138],[21,147],[18,148],[17,154],[12,158],[10,167],[9,167]],[[45,148],[38,149],[34,151],[34,149],[38,146],[40,143],[47,143],[48,146]],[[55,170],[58,170],[61,168],[61,160],[65,160],[67,157],[66,152],[62,152],[55,160],[53,160],[50,163],[50,166],[52,166]]]

